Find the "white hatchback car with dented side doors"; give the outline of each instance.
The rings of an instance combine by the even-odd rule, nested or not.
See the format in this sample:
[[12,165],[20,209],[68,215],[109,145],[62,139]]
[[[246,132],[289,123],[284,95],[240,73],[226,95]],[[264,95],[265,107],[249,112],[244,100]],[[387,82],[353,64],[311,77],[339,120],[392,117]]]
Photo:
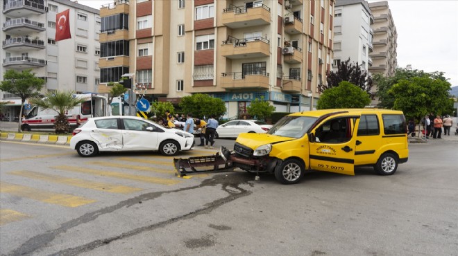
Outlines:
[[194,135],[167,129],[135,116],[89,118],[74,129],[71,149],[80,156],[95,156],[103,151],[159,151],[164,156],[194,147]]

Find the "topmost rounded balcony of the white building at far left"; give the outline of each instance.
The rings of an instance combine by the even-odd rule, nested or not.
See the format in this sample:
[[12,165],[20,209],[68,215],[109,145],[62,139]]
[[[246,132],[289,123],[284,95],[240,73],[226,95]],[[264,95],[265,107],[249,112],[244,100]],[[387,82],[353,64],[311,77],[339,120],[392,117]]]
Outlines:
[[47,8],[43,4],[34,3],[29,0],[10,0],[3,5],[3,14],[17,18],[44,14],[46,10]]

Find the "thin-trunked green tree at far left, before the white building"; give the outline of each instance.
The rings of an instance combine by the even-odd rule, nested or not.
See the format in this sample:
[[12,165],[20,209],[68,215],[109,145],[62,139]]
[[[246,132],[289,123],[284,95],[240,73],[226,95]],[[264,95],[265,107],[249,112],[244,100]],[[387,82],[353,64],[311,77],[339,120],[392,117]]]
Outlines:
[[19,124],[17,132],[21,131],[22,109],[26,99],[35,97],[43,88],[44,80],[35,77],[31,69],[17,72],[12,69],[6,71],[3,75],[3,81],[0,82],[0,90],[12,93],[21,98],[21,110],[19,111]]

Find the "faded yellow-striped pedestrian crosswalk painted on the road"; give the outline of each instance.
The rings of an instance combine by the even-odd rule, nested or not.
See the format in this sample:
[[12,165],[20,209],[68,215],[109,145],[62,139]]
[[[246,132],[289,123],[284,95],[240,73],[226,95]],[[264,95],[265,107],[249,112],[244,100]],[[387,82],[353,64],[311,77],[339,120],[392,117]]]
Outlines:
[[[214,154],[214,152],[196,150],[187,152],[183,157],[203,154]],[[66,155],[67,153],[29,158],[62,158]],[[15,203],[0,205],[0,226],[35,217],[31,213],[35,211],[27,211],[27,204],[25,207],[23,204],[16,205],[17,199],[33,200],[43,205],[53,204],[64,208],[78,208],[103,201],[101,195],[104,193],[128,196],[128,194],[139,193],[148,188],[178,185],[189,181],[176,176],[171,157],[113,156],[108,161],[107,158],[78,158],[80,159],[84,161],[78,165],[69,162],[64,165],[50,165],[43,170],[37,170],[33,166],[24,168],[22,165],[20,170],[2,172],[1,197],[7,199],[8,202]],[[3,158],[1,162],[27,160],[28,158]],[[206,176],[209,174],[197,174],[193,177],[205,178]],[[36,183],[40,185],[35,185]],[[42,184],[49,185],[43,186]],[[97,193],[85,192],[86,190]]]

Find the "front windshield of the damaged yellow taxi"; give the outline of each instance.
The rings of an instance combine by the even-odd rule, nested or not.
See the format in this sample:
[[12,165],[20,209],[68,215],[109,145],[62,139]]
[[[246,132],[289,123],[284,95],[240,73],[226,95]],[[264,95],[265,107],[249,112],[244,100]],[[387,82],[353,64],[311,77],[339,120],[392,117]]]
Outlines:
[[309,116],[285,116],[276,122],[267,134],[301,138],[307,130],[312,127],[316,119],[318,118],[312,118]]

